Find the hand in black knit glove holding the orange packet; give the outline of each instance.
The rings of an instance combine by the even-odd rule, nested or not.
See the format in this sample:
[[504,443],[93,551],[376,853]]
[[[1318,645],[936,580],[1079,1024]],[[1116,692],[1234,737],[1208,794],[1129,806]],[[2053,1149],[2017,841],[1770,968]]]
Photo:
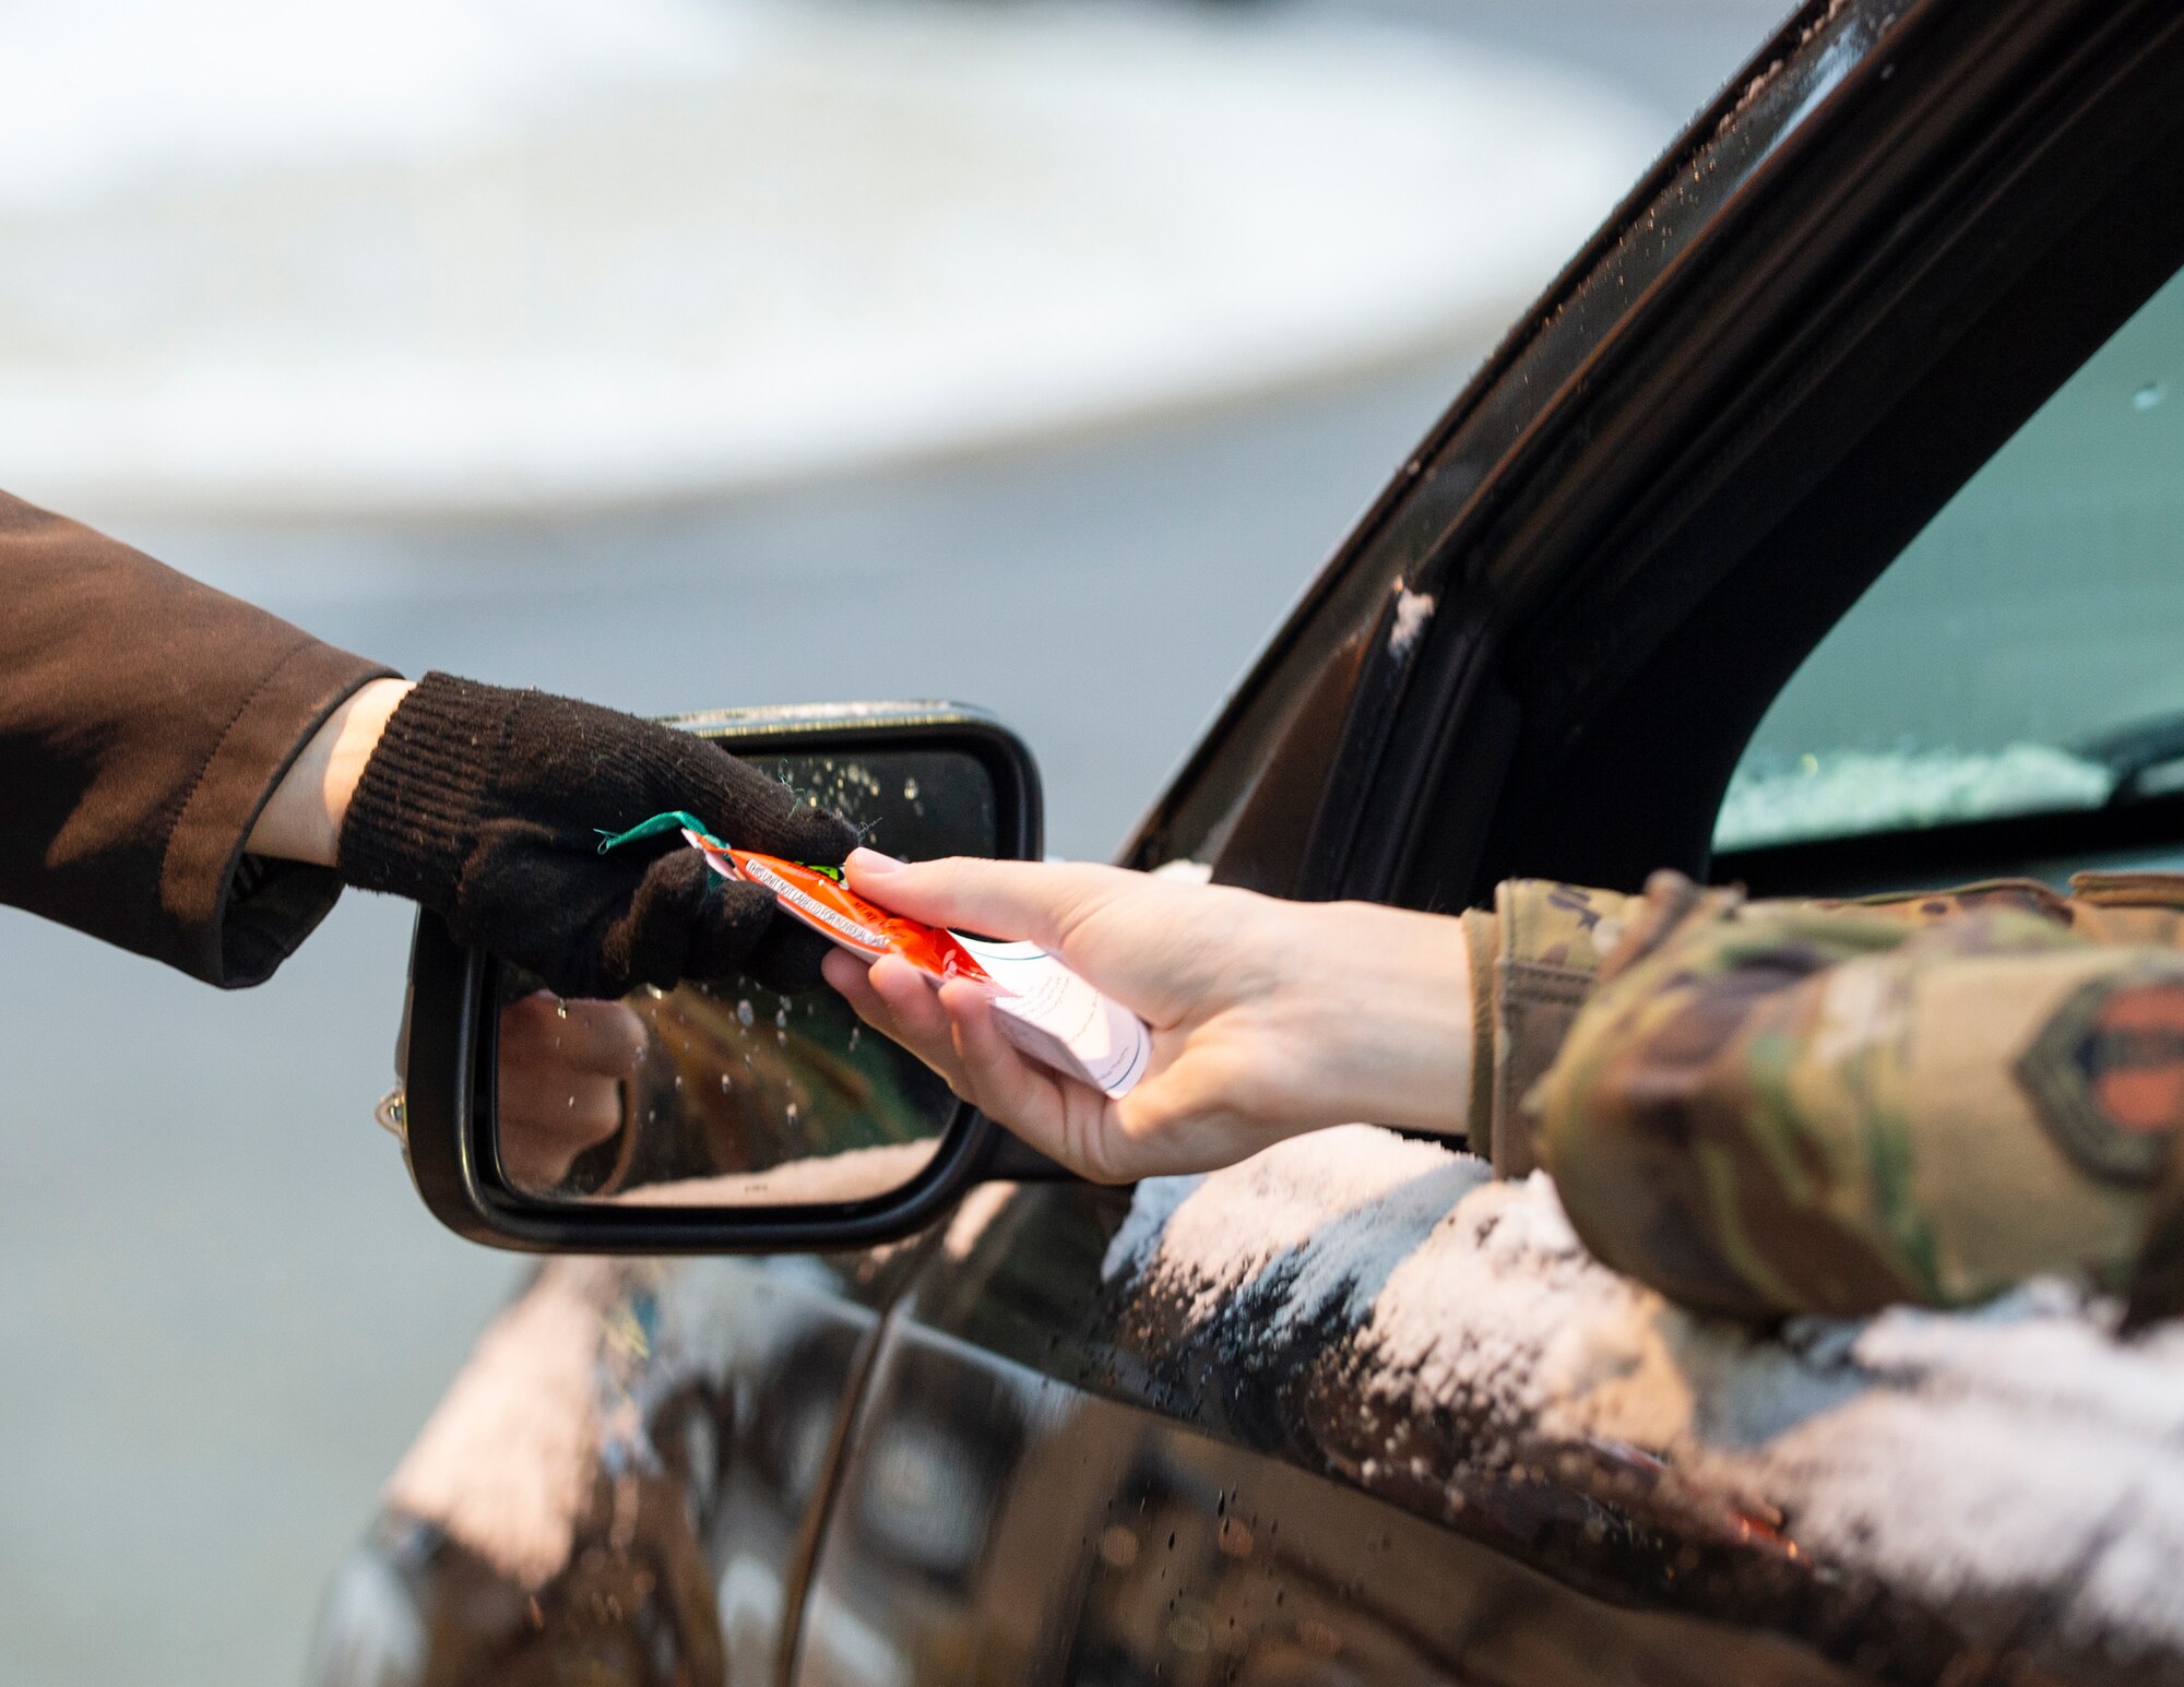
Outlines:
[[341,822],[341,876],[443,913],[563,996],[751,972],[819,981],[826,942],[679,837],[598,852],[666,809],[738,848],[834,865],[847,822],[703,739],[612,708],[428,673],[380,734]]

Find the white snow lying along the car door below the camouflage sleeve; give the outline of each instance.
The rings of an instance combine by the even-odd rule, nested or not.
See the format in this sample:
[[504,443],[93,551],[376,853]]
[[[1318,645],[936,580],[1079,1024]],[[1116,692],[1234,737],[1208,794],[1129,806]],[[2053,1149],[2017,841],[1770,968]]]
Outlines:
[[[1400,1471],[1411,1495],[1448,1484],[1444,1510],[1468,1460],[1612,1455],[1939,1611],[2044,1591],[2086,1643],[2184,1650],[2167,1569],[2184,1554],[2184,1329],[2123,1344],[2114,1302],[2062,1281],[1762,1337],[1594,1263],[1544,1173],[1494,1182],[1372,1125],[1140,1184],[1105,1272],[1230,1372],[1251,1375],[1254,1350],[1343,1348],[1389,1458],[1404,1425],[1468,1425],[1481,1444]],[[1332,1462],[1372,1486],[1374,1460]]]

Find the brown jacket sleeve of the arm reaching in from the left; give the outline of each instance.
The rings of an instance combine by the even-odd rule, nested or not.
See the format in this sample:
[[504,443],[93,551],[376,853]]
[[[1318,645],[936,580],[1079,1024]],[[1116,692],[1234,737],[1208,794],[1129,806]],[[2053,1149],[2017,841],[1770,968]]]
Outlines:
[[319,723],[387,673],[0,494],[0,903],[260,983],[341,881],[242,839]]

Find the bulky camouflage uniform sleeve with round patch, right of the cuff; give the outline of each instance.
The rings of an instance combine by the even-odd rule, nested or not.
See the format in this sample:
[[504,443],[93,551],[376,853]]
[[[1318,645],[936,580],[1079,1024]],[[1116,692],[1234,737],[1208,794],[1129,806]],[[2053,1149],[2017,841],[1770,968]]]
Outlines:
[[1529,1095],[1577,1232],[1734,1316],[2121,1285],[2184,1125],[2184,955],[2073,916],[1658,874]]

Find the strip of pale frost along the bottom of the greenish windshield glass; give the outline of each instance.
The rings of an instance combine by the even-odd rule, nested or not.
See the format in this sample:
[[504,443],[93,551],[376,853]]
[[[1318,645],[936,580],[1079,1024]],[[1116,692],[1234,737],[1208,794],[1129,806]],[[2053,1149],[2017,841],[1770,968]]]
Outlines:
[[2101,763],[2044,743],[1747,754],[1714,819],[1714,848],[2097,809],[2114,782]]

